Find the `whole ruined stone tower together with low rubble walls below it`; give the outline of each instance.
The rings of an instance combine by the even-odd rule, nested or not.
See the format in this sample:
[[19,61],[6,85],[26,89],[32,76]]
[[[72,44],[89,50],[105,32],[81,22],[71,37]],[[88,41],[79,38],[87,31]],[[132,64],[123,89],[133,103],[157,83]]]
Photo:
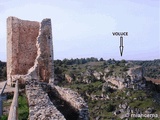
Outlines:
[[[35,22],[7,18],[7,84],[12,86],[15,82],[25,84],[29,120],[88,120],[88,106],[83,98],[70,89],[54,86],[50,19]],[[17,103],[18,92],[15,94],[13,101]],[[63,105],[58,105],[59,101]],[[10,115],[14,113],[17,107],[13,104]]]

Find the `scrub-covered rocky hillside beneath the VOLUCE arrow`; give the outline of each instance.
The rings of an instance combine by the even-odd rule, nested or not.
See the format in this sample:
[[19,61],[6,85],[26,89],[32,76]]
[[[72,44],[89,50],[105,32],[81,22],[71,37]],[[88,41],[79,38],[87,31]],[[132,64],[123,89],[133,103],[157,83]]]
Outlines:
[[55,83],[83,96],[90,119],[135,119],[131,114],[160,114],[159,85],[146,80],[145,66],[125,60],[56,64]]

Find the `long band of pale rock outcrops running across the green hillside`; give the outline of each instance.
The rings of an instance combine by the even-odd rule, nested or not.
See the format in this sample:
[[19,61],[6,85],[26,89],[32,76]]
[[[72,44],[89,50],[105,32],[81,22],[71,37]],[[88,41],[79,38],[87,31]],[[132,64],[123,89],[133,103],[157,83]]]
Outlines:
[[[95,80],[102,80],[106,82],[105,85],[113,89],[143,89],[145,88],[145,80],[143,75],[143,68],[140,66],[135,66],[129,68],[128,71],[122,71],[120,75],[116,75],[114,71],[113,74],[110,74],[110,70],[108,68],[105,68],[103,71],[87,69],[85,72],[81,73],[80,76],[75,75],[75,79],[79,82],[88,84]],[[73,79],[71,76],[65,77],[69,82]]]

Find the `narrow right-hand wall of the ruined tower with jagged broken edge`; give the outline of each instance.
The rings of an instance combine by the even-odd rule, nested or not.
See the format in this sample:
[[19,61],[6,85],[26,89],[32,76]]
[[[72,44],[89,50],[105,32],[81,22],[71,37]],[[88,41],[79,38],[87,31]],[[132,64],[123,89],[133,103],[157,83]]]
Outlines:
[[39,36],[37,37],[37,58],[35,64],[29,69],[28,74],[34,79],[43,82],[54,82],[53,66],[53,43],[51,20],[44,19],[40,24]]

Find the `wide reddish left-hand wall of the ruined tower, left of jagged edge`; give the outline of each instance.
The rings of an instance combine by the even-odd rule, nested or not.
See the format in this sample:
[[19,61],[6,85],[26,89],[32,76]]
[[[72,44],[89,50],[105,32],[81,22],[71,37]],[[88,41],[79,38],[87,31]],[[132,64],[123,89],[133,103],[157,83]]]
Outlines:
[[7,83],[11,75],[27,74],[37,56],[39,22],[7,18]]

